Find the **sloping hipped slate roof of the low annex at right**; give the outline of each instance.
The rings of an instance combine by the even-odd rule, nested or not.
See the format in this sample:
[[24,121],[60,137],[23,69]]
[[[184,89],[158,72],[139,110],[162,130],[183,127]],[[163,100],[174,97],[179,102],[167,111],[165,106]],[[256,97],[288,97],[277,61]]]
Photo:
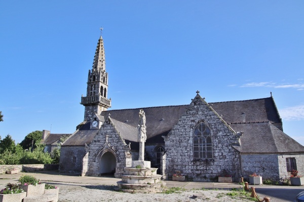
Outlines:
[[244,132],[241,136],[241,146],[234,146],[241,153],[276,154],[304,152],[304,146],[270,122],[239,123],[230,126],[236,132]]

